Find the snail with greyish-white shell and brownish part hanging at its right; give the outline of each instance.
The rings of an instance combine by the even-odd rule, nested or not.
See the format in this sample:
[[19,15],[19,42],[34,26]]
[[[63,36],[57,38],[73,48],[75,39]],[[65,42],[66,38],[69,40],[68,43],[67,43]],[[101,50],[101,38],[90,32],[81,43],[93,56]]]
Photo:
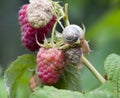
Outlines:
[[73,44],[79,40],[83,53],[89,53],[90,48],[88,42],[85,40],[84,35],[85,35],[84,26],[82,29],[81,27],[75,24],[67,26],[66,28],[64,28],[62,32],[62,38],[65,43]]

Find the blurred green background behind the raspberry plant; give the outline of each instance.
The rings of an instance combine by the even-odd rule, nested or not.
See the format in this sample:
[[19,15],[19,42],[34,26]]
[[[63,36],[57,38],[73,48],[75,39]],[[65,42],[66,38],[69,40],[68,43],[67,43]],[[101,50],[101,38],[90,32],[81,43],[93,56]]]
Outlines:
[[[105,58],[110,53],[120,54],[120,0],[59,1],[61,4],[68,2],[72,24],[85,25],[86,38],[92,50],[86,56],[103,75]],[[2,80],[4,70],[17,56],[29,52],[21,43],[17,20],[18,10],[27,2],[28,0],[0,0],[0,88],[3,89],[0,98],[6,98]],[[81,85],[83,90],[89,91],[99,83],[84,68],[81,73]]]

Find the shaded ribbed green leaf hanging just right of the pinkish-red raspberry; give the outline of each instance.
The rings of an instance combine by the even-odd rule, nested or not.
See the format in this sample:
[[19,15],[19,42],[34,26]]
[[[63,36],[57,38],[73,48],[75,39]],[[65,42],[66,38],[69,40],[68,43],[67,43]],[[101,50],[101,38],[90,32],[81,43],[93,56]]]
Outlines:
[[67,65],[60,81],[55,85],[57,88],[81,91],[80,70],[76,66]]

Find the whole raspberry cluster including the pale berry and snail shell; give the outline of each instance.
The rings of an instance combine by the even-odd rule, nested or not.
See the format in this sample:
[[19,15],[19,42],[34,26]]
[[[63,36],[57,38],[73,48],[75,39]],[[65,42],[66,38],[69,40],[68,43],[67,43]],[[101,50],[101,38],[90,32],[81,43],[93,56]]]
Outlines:
[[[44,85],[54,85],[63,73],[65,65],[80,65],[81,47],[85,42],[81,47],[80,45],[75,46],[81,40],[81,32],[84,33],[84,30],[82,31],[76,25],[70,25],[63,30],[62,34],[56,33],[54,24],[56,20],[59,21],[63,17],[61,10],[63,8],[51,0],[31,0],[29,4],[24,4],[18,12],[23,45],[33,52],[39,49],[36,56],[37,71],[35,73],[38,77],[34,75],[30,79],[32,91],[39,84],[36,83],[37,78]],[[55,27],[53,28],[53,26]],[[51,38],[45,39],[52,28]]]

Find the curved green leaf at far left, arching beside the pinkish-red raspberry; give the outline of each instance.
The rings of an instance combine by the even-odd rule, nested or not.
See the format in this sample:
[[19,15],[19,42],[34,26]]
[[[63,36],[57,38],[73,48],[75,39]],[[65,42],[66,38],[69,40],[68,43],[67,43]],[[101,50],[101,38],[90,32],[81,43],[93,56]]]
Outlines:
[[4,74],[5,88],[9,98],[16,98],[18,80],[28,68],[34,66],[36,66],[35,56],[30,54],[19,56],[17,60],[12,62]]

